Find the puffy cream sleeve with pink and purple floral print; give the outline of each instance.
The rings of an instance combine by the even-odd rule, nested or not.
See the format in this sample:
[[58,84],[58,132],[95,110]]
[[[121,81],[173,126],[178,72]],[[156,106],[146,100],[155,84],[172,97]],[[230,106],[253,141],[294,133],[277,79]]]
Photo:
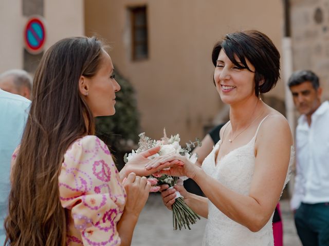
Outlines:
[[80,138],[66,151],[59,192],[67,210],[67,245],[120,245],[116,226],[126,194],[111,153],[98,137]]

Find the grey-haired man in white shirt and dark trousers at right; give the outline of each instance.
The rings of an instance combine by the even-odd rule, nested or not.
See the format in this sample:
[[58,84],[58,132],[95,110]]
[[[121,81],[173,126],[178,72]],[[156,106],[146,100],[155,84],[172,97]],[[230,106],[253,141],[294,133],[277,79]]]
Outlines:
[[329,245],[329,102],[318,76],[294,72],[288,86],[301,114],[296,128],[296,178],[290,208],[304,246]]

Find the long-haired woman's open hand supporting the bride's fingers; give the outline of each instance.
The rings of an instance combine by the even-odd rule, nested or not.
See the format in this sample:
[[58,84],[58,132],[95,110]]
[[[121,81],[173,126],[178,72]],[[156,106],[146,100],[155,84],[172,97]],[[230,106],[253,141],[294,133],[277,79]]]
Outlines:
[[[169,168],[171,166],[177,165],[177,163],[179,162],[178,160],[160,163],[163,159],[166,159],[166,156],[158,156],[154,159],[148,159],[148,157],[158,153],[159,150],[160,147],[158,146],[133,156],[120,171],[121,180],[132,172],[136,173],[137,176],[149,176],[152,173],[155,173],[163,168]],[[155,163],[157,163],[157,165],[154,166]],[[154,167],[150,169],[145,169],[145,166]]]

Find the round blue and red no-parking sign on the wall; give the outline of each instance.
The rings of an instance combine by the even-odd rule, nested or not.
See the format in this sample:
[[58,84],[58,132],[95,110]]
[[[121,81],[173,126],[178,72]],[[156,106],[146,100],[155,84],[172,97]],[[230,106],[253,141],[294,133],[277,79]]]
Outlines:
[[43,50],[46,40],[46,29],[43,18],[33,16],[28,19],[24,28],[24,42],[28,52],[38,54]]

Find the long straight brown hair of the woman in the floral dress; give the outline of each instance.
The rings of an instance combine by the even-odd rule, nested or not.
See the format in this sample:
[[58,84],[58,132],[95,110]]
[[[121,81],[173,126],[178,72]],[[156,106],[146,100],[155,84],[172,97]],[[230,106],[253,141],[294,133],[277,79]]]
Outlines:
[[44,54],[33,82],[33,98],[12,170],[10,245],[65,245],[66,217],[58,176],[64,154],[76,139],[94,134],[94,117],[79,92],[81,75],[99,69],[102,43],[95,37],[65,38]]

